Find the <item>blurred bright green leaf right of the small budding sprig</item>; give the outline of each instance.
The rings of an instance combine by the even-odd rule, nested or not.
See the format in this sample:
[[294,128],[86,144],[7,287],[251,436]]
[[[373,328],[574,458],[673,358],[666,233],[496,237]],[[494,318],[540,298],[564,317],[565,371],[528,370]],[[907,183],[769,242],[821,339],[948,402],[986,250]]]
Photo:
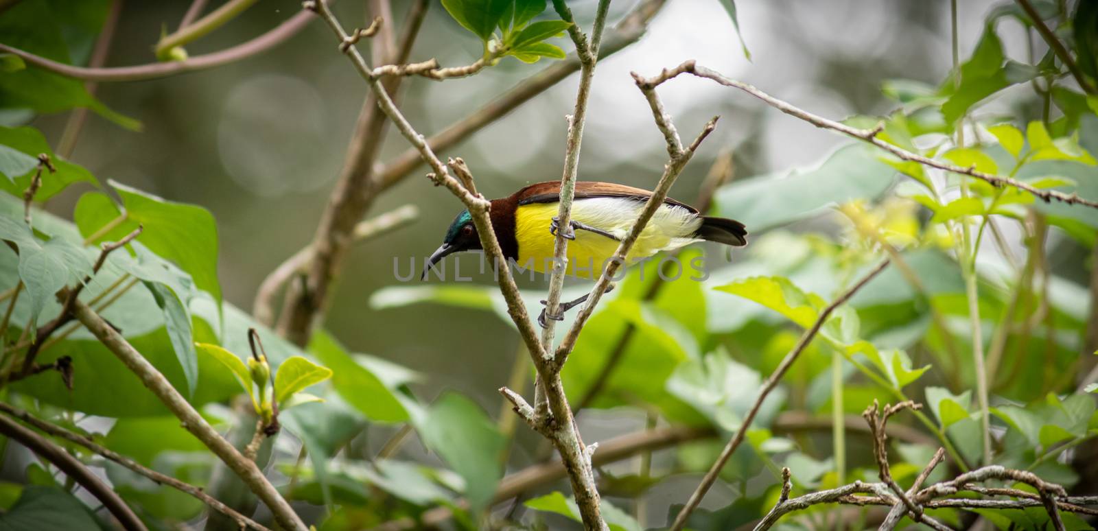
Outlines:
[[332,370],[332,385],[370,420],[403,422],[408,411],[396,394],[325,332],[313,334],[309,351]]

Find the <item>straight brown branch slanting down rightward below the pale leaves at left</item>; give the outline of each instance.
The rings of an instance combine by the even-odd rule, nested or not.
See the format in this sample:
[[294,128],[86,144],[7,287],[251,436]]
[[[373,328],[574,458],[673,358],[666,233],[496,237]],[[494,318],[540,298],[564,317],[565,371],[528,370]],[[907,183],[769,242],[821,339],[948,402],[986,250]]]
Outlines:
[[278,489],[267,479],[255,463],[240,455],[209,422],[194,409],[187,398],[179,394],[168,379],[160,374],[145,357],[130,344],[117,330],[87,304],[74,302],[72,314],[83,326],[114,353],[131,372],[141,379],[157,398],[181,421],[187,431],[202,441],[222,462],[235,472],[248,488],[259,497],[284,529],[307,529]]

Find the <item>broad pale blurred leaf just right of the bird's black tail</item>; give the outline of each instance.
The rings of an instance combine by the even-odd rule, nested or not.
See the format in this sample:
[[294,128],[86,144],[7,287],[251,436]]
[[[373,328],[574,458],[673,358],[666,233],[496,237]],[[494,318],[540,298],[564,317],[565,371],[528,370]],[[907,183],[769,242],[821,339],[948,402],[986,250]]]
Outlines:
[[739,219],[748,230],[760,233],[837,204],[877,197],[895,182],[896,170],[881,161],[879,149],[851,144],[814,168],[737,179],[717,190],[714,205],[718,215]]

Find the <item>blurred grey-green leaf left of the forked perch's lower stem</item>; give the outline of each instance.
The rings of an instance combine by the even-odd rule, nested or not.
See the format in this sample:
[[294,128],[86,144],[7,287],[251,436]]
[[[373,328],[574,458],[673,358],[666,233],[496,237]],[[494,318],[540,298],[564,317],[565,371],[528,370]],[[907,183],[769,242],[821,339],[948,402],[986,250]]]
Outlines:
[[503,477],[500,455],[506,439],[480,406],[456,393],[444,394],[416,428],[424,444],[464,478],[472,511],[483,509]]

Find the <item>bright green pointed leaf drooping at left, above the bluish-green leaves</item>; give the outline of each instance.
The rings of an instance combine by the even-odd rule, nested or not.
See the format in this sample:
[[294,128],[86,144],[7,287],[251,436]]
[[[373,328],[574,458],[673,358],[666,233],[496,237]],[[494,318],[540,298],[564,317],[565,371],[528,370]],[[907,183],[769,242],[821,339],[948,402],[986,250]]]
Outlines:
[[[117,240],[143,225],[137,241],[153,252],[176,262],[190,273],[198,289],[213,295],[221,304],[217,282],[217,225],[201,206],[166,201],[146,192],[110,181],[125,207],[124,221],[93,244]],[[74,217],[80,234],[89,237],[122,215],[117,206],[98,192],[86,193],[77,203]]]

